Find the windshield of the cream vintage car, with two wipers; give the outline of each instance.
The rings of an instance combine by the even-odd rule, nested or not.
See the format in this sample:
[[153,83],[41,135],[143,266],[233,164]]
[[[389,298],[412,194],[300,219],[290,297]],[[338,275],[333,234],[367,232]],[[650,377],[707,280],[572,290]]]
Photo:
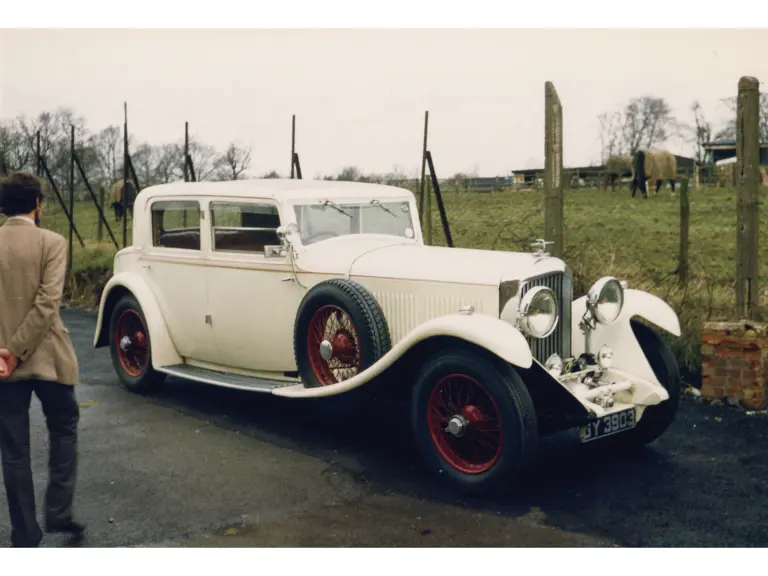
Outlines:
[[350,234],[387,234],[414,238],[411,205],[407,200],[297,204],[296,223],[305,246]]

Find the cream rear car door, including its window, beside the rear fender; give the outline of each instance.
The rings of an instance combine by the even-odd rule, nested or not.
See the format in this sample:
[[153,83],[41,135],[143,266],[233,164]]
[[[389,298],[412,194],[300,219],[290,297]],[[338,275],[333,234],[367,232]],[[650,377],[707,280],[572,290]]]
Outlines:
[[217,349],[206,321],[205,260],[208,239],[201,234],[205,210],[196,198],[158,198],[150,206],[151,238],[139,264],[160,305],[182,357],[215,361]]

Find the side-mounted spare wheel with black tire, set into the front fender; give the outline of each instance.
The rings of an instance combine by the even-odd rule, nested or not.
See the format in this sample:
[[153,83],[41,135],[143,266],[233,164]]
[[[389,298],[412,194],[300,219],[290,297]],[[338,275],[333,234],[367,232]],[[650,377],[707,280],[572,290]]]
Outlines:
[[[332,313],[339,326],[335,332],[331,328],[325,336],[334,332],[336,337],[346,338],[339,346],[336,338],[332,338],[331,360],[336,360],[333,364],[353,367],[343,373],[334,374],[331,360],[322,358],[316,349],[319,346],[319,341],[314,341],[318,340],[317,329],[326,313]],[[330,321],[329,316],[326,327]],[[353,330],[349,330],[350,325]],[[316,331],[310,336],[313,326]],[[293,342],[299,376],[308,388],[347,380],[369,368],[391,348],[387,320],[373,295],[357,282],[338,278],[317,284],[304,296],[296,314]]]

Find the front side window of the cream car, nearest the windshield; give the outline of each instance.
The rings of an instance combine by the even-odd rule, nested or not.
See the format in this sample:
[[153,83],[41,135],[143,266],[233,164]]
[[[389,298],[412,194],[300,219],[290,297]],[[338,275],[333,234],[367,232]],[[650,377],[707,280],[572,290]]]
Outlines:
[[279,246],[277,206],[251,202],[211,202],[213,250],[264,253]]

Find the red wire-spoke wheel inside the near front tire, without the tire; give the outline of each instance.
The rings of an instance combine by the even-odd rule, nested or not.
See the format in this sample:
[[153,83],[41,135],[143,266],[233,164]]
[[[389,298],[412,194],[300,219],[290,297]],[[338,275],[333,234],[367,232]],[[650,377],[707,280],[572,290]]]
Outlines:
[[451,466],[479,474],[496,464],[501,414],[482,384],[464,374],[446,376],[432,388],[427,409],[432,441]]

